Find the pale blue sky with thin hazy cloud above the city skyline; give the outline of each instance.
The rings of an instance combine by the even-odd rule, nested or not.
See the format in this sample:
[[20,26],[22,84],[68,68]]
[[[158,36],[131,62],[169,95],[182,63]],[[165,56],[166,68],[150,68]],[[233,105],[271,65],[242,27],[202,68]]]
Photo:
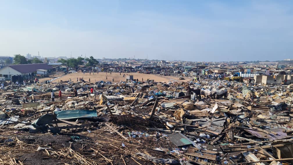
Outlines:
[[0,0],[0,55],[293,58],[293,1]]

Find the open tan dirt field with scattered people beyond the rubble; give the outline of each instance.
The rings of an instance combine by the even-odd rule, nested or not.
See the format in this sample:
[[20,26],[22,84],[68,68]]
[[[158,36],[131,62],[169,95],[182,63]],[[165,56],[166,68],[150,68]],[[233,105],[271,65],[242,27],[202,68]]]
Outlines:
[[[71,78],[71,81],[76,82],[77,78],[84,78],[85,81],[88,81],[89,78],[91,78],[91,82],[95,82],[95,81],[106,81],[106,76],[107,76],[107,80],[108,81],[112,81],[112,79],[114,78],[114,82],[120,82],[120,80],[125,81],[125,78],[123,78],[123,74],[124,73],[105,73],[105,72],[99,72],[97,73],[91,73],[91,75],[89,73],[70,73],[67,75],[64,75],[60,78],[57,78],[56,80],[52,81],[52,82],[58,82],[60,80],[62,81],[68,81]],[[190,78],[186,78],[185,80],[179,80],[179,76],[175,77],[175,76],[161,76],[161,75],[151,75],[151,74],[142,74],[142,73],[127,73],[128,75],[133,75],[133,78],[137,79],[139,81],[142,81],[142,78],[144,79],[144,81],[146,81],[148,78],[150,80],[155,80],[156,82],[168,82],[169,80],[171,81],[189,81],[191,80]],[[52,78],[56,78],[58,76],[54,76],[51,77]],[[126,77],[126,73],[125,73],[125,77]],[[49,78],[42,78],[40,79],[41,82],[45,81],[45,80],[49,80]]]

